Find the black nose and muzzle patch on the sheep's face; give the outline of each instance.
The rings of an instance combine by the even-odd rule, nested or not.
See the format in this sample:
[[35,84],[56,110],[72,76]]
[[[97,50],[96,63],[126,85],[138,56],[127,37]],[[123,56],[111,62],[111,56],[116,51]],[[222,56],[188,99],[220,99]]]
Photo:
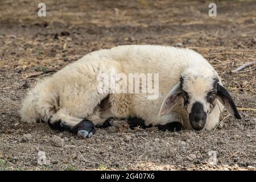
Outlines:
[[207,121],[207,113],[204,111],[204,107],[200,102],[193,104],[191,113],[189,113],[189,122],[192,128],[196,131],[200,131],[204,128]]

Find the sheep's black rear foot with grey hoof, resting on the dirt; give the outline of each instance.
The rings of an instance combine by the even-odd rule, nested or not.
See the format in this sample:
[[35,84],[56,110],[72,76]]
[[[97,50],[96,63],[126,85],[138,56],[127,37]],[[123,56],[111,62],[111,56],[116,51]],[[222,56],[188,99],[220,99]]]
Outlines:
[[77,126],[77,136],[83,138],[90,138],[96,132],[93,122],[84,119]]

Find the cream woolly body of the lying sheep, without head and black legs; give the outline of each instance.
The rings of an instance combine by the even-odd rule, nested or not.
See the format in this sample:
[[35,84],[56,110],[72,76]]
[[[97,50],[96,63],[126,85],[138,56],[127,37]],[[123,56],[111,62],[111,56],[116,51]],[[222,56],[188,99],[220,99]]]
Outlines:
[[[189,68],[189,69],[188,69]],[[144,119],[146,125],[159,125],[172,121],[183,122],[191,129],[188,113],[180,101],[171,113],[158,117],[162,102],[177,84],[181,73],[190,68],[194,73],[217,75],[212,66],[199,53],[189,49],[164,46],[119,46],[85,55],[67,65],[53,76],[40,81],[23,101],[22,120],[34,123],[37,119],[61,121],[75,126],[83,118],[101,125],[109,117]],[[159,97],[148,100],[148,94],[99,93],[97,76],[117,73],[159,73]],[[109,96],[109,106],[99,104]],[[220,105],[221,106],[221,105]],[[214,107],[207,118],[205,129],[217,125],[221,107]]]

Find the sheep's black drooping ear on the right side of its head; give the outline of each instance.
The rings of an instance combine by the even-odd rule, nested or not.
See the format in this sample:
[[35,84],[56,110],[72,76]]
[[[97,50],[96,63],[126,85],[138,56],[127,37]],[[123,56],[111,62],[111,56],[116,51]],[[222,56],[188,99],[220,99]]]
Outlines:
[[233,117],[237,119],[241,119],[241,115],[237,111],[237,106],[228,93],[228,90],[226,90],[220,84],[218,84],[217,99],[221,102],[222,105],[224,105],[229,114],[233,115]]

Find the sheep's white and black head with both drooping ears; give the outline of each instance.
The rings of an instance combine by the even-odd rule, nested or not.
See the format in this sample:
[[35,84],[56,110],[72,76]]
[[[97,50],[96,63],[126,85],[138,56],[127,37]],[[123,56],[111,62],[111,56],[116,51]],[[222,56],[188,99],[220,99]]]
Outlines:
[[197,69],[195,72],[188,69],[183,72],[180,81],[164,99],[159,115],[168,114],[180,100],[187,110],[191,127],[196,131],[204,128],[207,116],[216,106],[217,100],[233,117],[241,119],[232,97],[212,70]]

